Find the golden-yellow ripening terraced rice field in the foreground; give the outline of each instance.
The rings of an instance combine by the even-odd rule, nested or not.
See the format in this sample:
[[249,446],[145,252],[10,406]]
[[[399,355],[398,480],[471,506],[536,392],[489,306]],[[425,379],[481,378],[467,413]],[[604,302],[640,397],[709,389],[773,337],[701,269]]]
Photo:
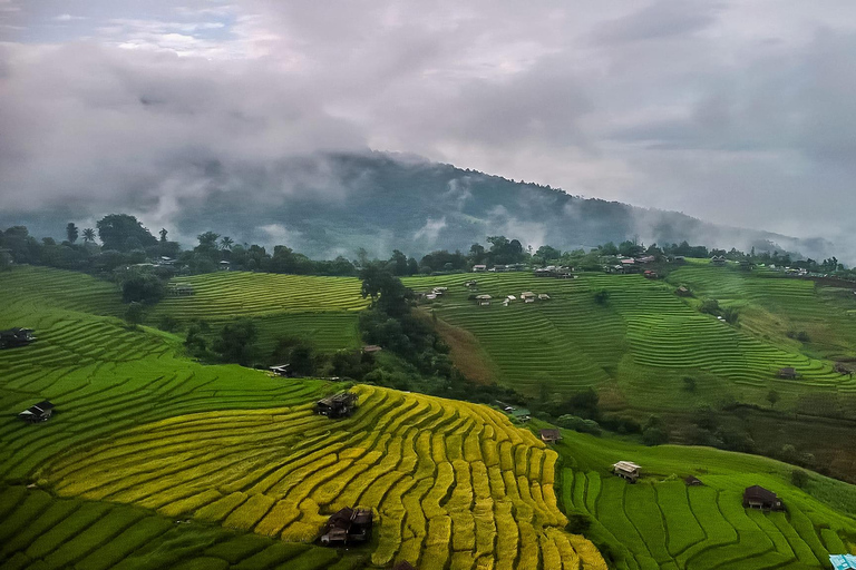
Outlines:
[[40,480],[64,497],[298,542],[342,507],[372,508],[379,567],[605,568],[562,530],[557,456],[531,433],[484,406],[357,390],[343,421],[309,405],[181,415],[66,454]]

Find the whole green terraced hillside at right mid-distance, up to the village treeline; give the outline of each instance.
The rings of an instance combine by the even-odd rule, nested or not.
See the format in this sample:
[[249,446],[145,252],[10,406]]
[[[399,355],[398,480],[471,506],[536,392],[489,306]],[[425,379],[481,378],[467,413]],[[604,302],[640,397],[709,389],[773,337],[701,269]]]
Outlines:
[[[474,278],[477,291],[469,291],[465,283]],[[856,317],[847,313],[856,301],[852,294],[818,293],[813,282],[692,264],[668,281],[481,273],[405,283],[415,291],[448,287],[425,309],[470,332],[496,380],[531,395],[543,393],[543,384],[565,394],[593,386],[619,407],[653,410],[685,409],[724,393],[766,405],[765,395],[775,389],[781,407],[795,407],[811,391],[837,397],[843,411],[856,403],[856,380],[834,370],[836,358],[856,355]],[[697,298],[675,295],[684,283]],[[600,291],[609,295],[603,304],[594,298]],[[523,292],[549,299],[524,303]],[[473,294],[490,295],[490,305],[470,301]],[[517,298],[504,305],[508,295]],[[740,324],[700,313],[702,297],[739,306]],[[809,331],[815,342],[802,346],[788,338],[791,328]],[[798,380],[779,379],[785,367],[794,367]],[[682,390],[685,376],[696,379],[693,394]]]

